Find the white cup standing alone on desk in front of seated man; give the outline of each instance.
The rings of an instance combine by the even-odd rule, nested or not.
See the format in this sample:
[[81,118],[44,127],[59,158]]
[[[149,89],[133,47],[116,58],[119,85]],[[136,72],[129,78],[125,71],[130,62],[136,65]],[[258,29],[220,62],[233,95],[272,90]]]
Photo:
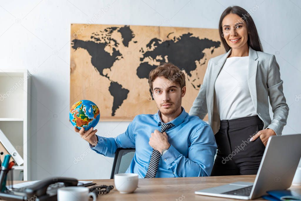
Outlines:
[[114,175],[115,188],[120,193],[132,193],[138,187],[138,174],[123,173]]

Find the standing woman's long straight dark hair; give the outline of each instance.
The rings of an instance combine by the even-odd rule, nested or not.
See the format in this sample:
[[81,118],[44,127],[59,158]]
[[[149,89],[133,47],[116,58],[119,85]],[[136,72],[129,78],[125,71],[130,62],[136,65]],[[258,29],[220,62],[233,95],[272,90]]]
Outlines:
[[249,33],[248,41],[247,41],[248,45],[253,50],[263,52],[261,42],[257,33],[257,29],[251,15],[244,8],[241,8],[239,6],[233,6],[233,7],[229,6],[228,8],[225,9],[225,11],[221,15],[221,18],[219,19],[219,37],[222,41],[222,44],[226,52],[228,52],[231,49],[231,47],[227,44],[225,38],[223,37],[222,21],[224,17],[230,13],[237,14],[239,17],[241,17],[242,20],[246,22],[247,30]]

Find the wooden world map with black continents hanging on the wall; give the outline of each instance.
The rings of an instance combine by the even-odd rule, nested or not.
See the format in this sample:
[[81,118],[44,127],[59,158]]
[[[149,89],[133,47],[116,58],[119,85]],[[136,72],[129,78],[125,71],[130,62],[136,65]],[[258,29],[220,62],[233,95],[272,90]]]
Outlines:
[[148,75],[172,62],[185,73],[182,106],[189,112],[209,59],[223,53],[217,29],[71,24],[70,105],[93,101],[101,121],[155,114]]

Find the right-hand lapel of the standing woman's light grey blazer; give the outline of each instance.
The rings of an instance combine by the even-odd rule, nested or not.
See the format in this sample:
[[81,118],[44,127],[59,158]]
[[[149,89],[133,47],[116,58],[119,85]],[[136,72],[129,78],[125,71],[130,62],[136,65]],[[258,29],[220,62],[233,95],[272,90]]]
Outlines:
[[257,66],[258,61],[257,52],[249,47],[249,70],[248,70],[248,85],[251,94],[251,99],[255,110],[257,112],[257,91],[256,91],[256,73],[257,73]]

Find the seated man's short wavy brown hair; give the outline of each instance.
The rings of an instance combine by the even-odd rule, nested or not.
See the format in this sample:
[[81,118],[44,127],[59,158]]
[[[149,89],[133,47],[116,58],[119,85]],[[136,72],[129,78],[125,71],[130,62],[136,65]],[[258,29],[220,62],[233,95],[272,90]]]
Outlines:
[[185,74],[177,66],[172,63],[161,63],[155,69],[151,70],[148,83],[153,91],[153,82],[157,77],[164,77],[170,81],[167,85],[170,85],[172,82],[178,83],[181,89],[186,86]]

